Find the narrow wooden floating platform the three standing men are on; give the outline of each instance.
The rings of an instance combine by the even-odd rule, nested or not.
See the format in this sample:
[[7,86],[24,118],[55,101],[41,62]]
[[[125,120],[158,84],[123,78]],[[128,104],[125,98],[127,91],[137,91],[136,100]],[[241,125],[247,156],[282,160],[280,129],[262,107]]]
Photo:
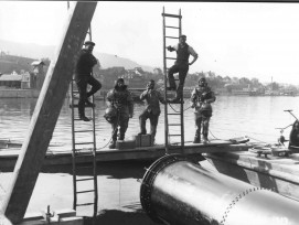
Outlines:
[[[244,142],[244,141],[243,141]],[[247,143],[211,140],[210,143],[191,143],[186,142],[184,152],[186,156],[199,156],[203,152],[227,152],[227,151],[245,151],[250,148]],[[88,149],[86,149],[88,151]],[[19,157],[19,148],[0,149],[0,170],[7,170],[14,167],[15,161]],[[170,153],[180,153],[179,146],[172,146]],[[125,161],[125,160],[156,160],[165,154],[164,146],[157,144],[153,147],[142,147],[135,149],[100,149],[96,152],[96,160],[98,162],[109,161]],[[93,158],[90,156],[82,156],[77,158],[78,163],[90,162]],[[47,150],[44,165],[61,165],[72,164],[72,151],[60,150],[51,151]]]

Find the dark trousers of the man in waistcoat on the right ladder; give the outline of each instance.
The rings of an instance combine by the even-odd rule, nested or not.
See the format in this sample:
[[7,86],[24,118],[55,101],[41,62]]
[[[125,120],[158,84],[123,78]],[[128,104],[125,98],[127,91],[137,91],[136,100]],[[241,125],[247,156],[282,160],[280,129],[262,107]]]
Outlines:
[[188,71],[189,71],[188,64],[180,64],[180,65],[174,64],[168,71],[169,86],[174,87],[174,88],[177,88],[177,85],[175,85],[173,74],[179,73],[179,87],[177,89],[177,98],[183,97],[183,87],[184,87],[184,81],[185,81]]

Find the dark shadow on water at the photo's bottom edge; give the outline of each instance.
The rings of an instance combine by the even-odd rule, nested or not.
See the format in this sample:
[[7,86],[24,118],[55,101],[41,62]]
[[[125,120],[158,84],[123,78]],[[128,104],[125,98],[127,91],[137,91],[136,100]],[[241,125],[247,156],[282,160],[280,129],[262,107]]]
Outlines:
[[[116,210],[103,211],[100,215],[97,216],[96,223],[100,225],[158,225],[153,223],[148,215],[142,211],[128,213]],[[93,219],[86,217],[84,219],[84,225],[93,225]]]

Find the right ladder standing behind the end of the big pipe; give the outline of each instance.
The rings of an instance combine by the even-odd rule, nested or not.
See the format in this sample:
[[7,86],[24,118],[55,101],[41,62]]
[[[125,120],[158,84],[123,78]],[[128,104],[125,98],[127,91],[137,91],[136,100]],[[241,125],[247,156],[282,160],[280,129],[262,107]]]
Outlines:
[[[169,14],[164,12],[164,7],[163,7],[163,12],[162,12],[162,18],[163,18],[163,73],[164,73],[164,98],[168,98],[168,89],[167,89],[167,84],[168,84],[168,71],[169,66],[168,63],[169,61],[177,60],[177,57],[171,57],[167,54],[167,46],[169,45],[169,42],[172,40],[175,40],[178,44],[179,36],[182,34],[182,15],[181,15],[181,9],[179,11],[179,14]],[[168,19],[168,22],[167,22]],[[167,23],[170,22],[170,20],[177,20],[175,23],[178,22],[178,25],[167,25]],[[173,33],[169,35],[169,33]],[[173,53],[172,53],[173,54]],[[174,79],[175,82],[179,81],[178,78]],[[184,153],[184,101],[183,98],[181,99],[180,104],[180,109],[177,111],[170,104],[164,105],[164,132],[165,132],[165,154],[169,154],[169,149],[171,147],[170,143],[170,138],[171,137],[180,137],[181,138],[181,153]],[[169,110],[171,109],[171,110]],[[178,120],[179,117],[179,122],[175,121]],[[170,133],[170,128],[180,128],[180,133]],[[173,131],[173,129],[171,129]]]

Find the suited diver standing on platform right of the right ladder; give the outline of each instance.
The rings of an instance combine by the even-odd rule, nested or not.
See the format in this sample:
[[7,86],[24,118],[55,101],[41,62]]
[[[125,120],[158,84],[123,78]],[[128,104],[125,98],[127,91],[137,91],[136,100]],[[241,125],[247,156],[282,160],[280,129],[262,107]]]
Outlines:
[[211,103],[216,100],[214,92],[207,86],[204,77],[200,78],[199,87],[195,87],[191,94],[191,107],[195,108],[196,132],[193,143],[201,142],[201,128],[203,127],[203,143],[206,143],[209,135],[209,124],[212,117]]

